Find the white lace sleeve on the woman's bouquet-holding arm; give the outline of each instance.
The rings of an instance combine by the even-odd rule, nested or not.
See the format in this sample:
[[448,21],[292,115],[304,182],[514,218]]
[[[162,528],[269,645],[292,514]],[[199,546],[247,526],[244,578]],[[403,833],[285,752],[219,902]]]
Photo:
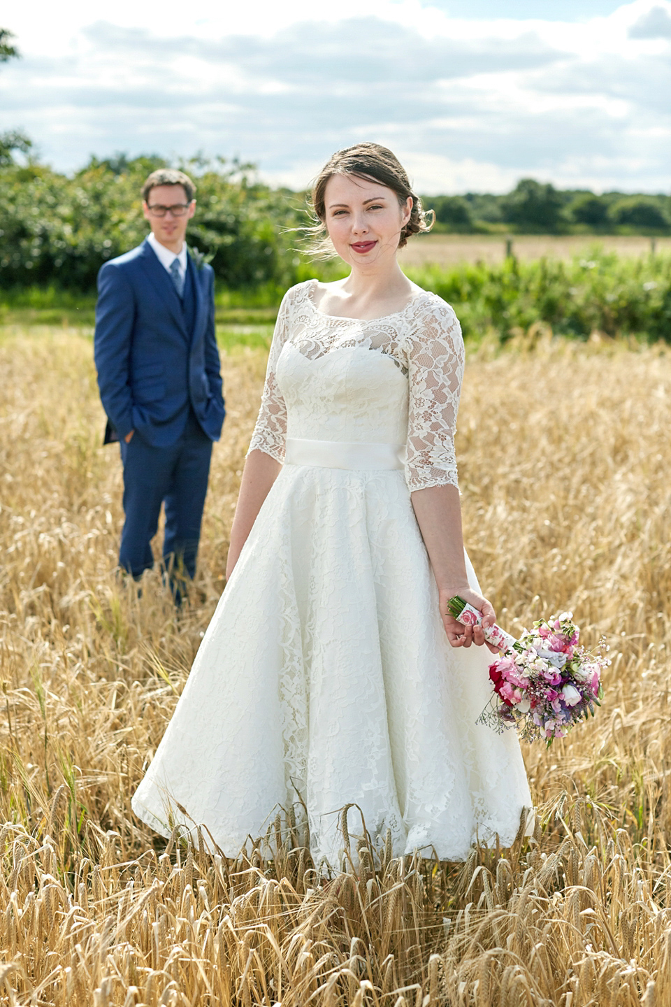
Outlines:
[[409,404],[405,478],[410,491],[457,486],[455,431],[464,377],[464,340],[452,308],[422,298],[406,337]]

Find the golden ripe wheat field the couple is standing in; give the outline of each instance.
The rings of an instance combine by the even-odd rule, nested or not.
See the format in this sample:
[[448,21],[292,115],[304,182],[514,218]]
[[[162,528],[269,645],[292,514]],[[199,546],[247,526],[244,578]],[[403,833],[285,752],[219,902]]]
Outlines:
[[91,339],[0,333],[0,1002],[671,1004],[671,353],[536,328],[470,359],[471,557],[511,630],[566,607],[586,643],[607,634],[604,707],[524,747],[533,836],[465,864],[363,843],[332,876],[291,809],[235,860],[131,812],[223,586],[265,358],[222,363],[228,418],[176,615],[157,576],[138,597],[115,574],[121,466]]

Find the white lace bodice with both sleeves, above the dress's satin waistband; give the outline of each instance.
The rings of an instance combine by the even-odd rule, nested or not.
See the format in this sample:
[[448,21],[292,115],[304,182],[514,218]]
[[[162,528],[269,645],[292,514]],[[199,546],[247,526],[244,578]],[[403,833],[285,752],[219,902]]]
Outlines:
[[[249,451],[258,448],[283,462],[287,436],[400,438],[410,491],[457,485],[464,342],[453,309],[422,291],[402,311],[383,318],[340,318],[317,309],[316,284],[300,283],[282,301]],[[347,349],[375,353],[331,357]],[[381,366],[382,357],[394,367]],[[307,361],[323,366],[306,370]]]

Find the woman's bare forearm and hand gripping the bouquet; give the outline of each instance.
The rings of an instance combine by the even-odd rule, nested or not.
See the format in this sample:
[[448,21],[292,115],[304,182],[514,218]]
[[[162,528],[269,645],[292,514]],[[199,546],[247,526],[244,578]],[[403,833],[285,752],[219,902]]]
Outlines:
[[415,489],[410,499],[438,585],[441,616],[448,639],[453,646],[470,646],[473,641],[484,643],[485,634],[480,626],[464,626],[448,613],[450,598],[459,594],[480,609],[485,625],[492,625],[496,618],[491,603],[469,587],[459,489],[453,485],[429,486]]

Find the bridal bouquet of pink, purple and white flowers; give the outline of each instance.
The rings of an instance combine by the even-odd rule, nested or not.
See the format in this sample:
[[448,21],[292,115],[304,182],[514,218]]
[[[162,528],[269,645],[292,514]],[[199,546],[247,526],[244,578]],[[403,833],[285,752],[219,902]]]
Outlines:
[[[482,612],[463,598],[449,602],[450,614],[463,625],[479,625]],[[578,721],[595,715],[604,695],[602,673],[610,665],[602,638],[597,654],[577,646],[579,629],[572,612],[539,619],[519,639],[498,625],[485,629],[485,639],[498,646],[489,666],[494,694],[478,718],[496,730],[516,727],[527,741],[548,745]]]

